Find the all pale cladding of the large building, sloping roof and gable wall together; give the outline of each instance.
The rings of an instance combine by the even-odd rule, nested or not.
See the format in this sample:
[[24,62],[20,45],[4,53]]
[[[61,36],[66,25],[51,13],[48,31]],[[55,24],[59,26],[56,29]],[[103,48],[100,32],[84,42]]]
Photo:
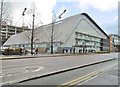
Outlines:
[[[54,24],[54,41],[60,41],[63,46],[75,45],[75,32],[81,32],[100,38],[106,38],[101,32],[85,15],[77,14],[68,17],[62,21]],[[20,34],[11,36],[4,45],[12,44],[27,44],[31,41],[31,31],[22,32]],[[51,24],[43,25],[34,30],[34,42],[50,42],[51,40]]]

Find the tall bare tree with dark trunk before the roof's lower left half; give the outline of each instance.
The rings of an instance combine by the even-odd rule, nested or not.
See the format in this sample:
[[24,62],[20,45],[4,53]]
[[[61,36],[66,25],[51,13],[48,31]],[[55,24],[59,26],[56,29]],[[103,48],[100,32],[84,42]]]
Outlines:
[[28,10],[28,15],[31,16],[31,21],[28,23],[30,26],[32,26],[31,31],[29,31],[29,34],[27,33],[26,37],[30,39],[31,41],[31,54],[33,54],[33,44],[36,40],[39,40],[40,38],[37,38],[37,27],[42,24],[42,21],[40,19],[40,13],[37,10],[37,7],[35,5],[35,2],[32,3],[32,7]]

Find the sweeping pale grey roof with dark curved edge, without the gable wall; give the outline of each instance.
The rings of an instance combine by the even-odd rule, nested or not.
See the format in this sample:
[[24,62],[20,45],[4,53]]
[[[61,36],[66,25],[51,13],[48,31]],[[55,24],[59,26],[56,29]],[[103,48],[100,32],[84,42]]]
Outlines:
[[[101,38],[108,38],[107,34],[86,14],[77,14],[71,17],[68,17],[64,20],[58,21],[54,24],[54,41],[65,42],[70,34],[73,32],[78,22],[83,18],[91,21],[96,28],[97,31],[100,32]],[[42,25],[37,29],[34,29],[34,42],[50,42],[51,38],[51,24]],[[12,44],[27,44],[31,42],[31,30],[25,31],[20,34],[16,34],[11,36],[4,45],[12,45]]]

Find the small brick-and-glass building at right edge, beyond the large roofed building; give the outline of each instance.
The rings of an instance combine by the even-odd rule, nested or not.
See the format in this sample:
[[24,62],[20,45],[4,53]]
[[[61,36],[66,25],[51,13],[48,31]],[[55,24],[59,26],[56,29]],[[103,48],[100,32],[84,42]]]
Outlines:
[[110,52],[120,52],[120,36],[117,34],[110,34]]

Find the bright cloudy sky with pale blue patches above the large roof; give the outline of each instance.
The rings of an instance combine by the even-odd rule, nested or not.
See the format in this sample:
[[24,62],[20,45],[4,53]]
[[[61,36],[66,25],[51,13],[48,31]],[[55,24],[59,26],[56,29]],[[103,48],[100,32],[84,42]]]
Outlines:
[[106,32],[118,33],[118,1],[119,0],[9,0],[12,4],[14,24],[22,23],[22,12],[27,8],[24,16],[26,25],[31,24],[30,8],[35,4],[37,19],[48,24],[52,19],[52,12],[59,15],[64,9],[66,13],[62,19],[86,12]]

